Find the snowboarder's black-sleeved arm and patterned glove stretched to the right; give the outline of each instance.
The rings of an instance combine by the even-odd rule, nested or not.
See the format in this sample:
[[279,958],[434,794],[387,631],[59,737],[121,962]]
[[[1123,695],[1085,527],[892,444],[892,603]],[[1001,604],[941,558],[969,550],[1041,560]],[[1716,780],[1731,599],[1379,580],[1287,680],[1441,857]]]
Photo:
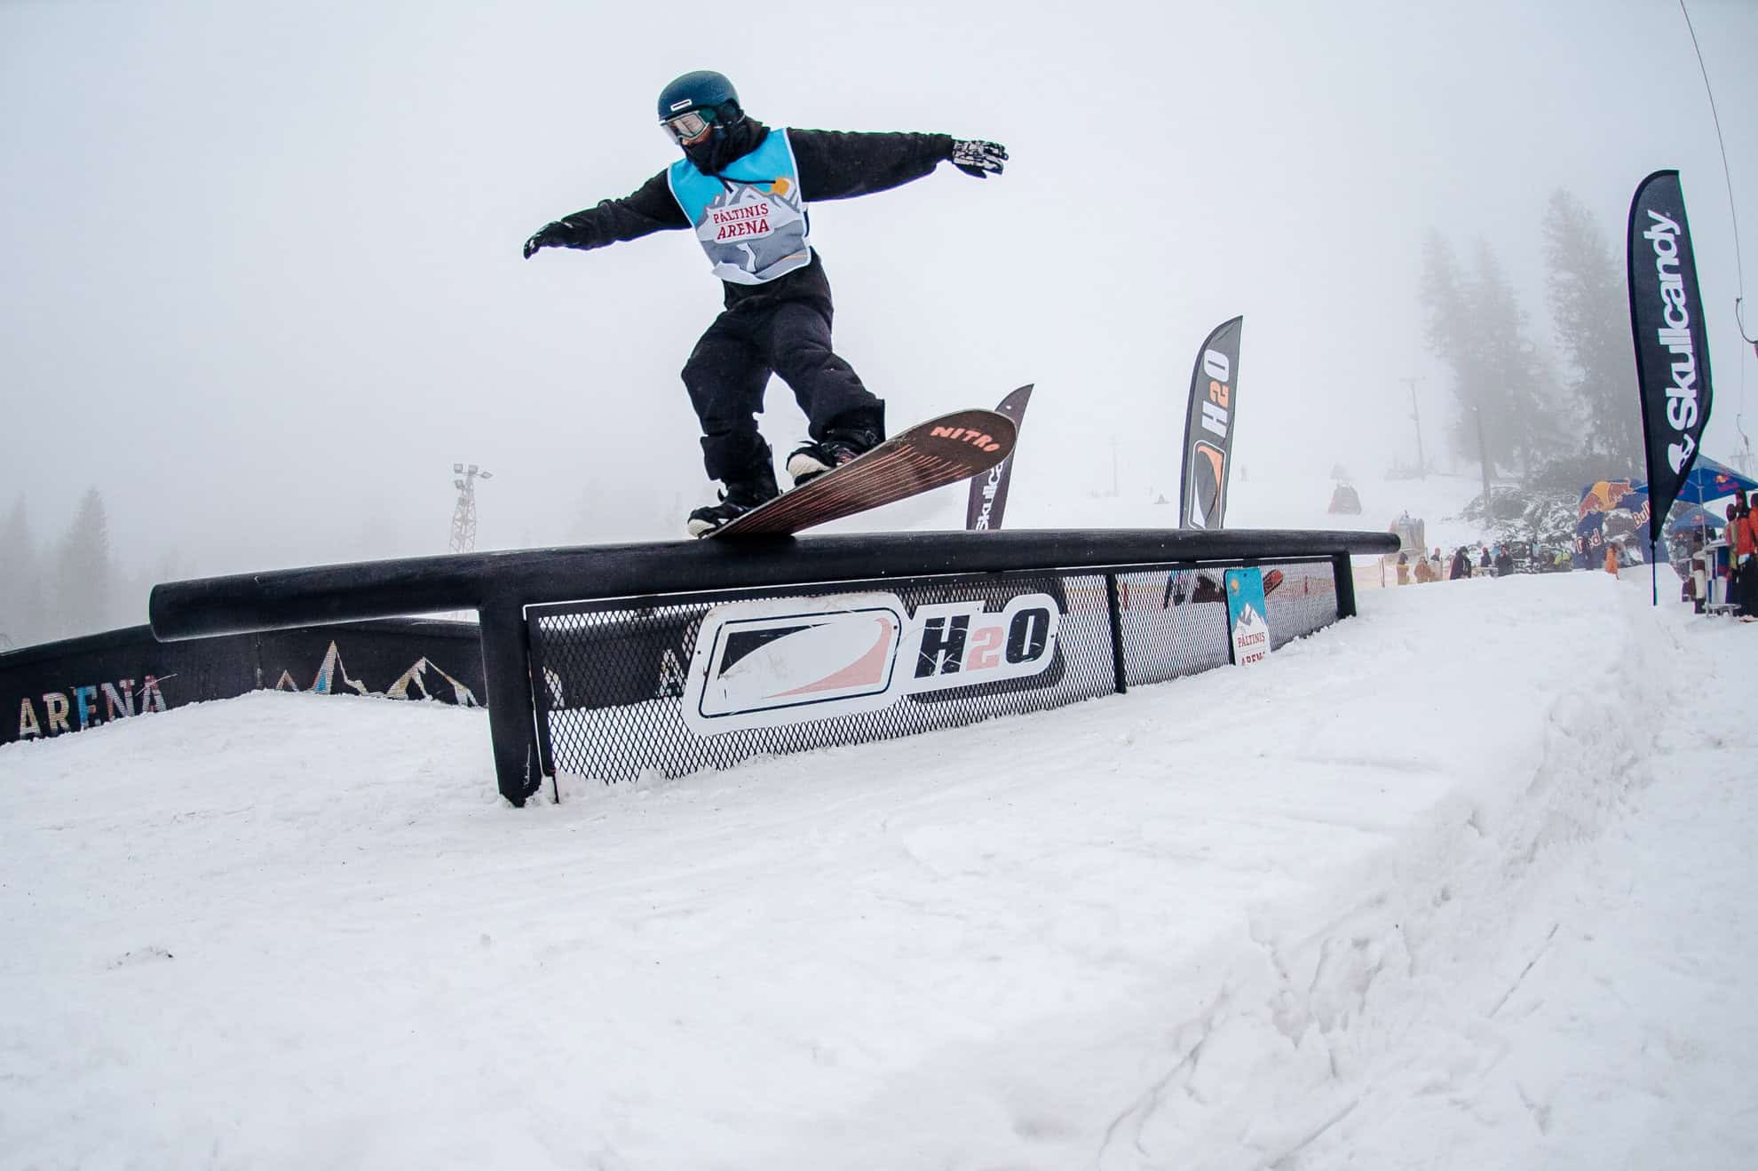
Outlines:
[[1007,151],[999,142],[955,139],[949,134],[856,134],[846,130],[789,130],[800,165],[800,195],[853,199],[888,192],[951,162],[965,174],[1000,174]]

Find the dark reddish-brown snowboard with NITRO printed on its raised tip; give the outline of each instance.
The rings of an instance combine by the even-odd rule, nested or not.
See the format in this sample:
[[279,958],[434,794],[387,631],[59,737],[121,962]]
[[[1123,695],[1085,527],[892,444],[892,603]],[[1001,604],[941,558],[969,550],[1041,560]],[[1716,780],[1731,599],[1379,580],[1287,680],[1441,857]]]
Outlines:
[[958,484],[1007,459],[1014,434],[1013,420],[999,411],[941,415],[897,433],[874,450],[782,492],[707,536],[788,536]]

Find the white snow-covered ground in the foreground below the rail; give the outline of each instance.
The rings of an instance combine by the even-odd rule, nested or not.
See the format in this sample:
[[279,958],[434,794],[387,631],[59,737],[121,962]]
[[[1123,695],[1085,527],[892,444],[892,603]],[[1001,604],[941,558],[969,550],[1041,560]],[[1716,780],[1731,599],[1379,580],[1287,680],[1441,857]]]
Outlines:
[[1758,626],[1661,596],[522,811],[438,703],[4,746],[0,1166],[1749,1167]]

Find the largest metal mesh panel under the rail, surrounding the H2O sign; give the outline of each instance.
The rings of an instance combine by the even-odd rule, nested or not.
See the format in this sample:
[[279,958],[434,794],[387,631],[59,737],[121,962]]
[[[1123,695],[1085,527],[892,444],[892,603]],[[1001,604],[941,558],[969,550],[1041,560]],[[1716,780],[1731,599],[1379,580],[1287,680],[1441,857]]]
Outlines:
[[[905,695],[879,710],[716,735],[698,735],[686,724],[686,673],[701,619],[712,607],[735,600],[812,600],[867,591],[895,594],[911,612],[946,601],[983,601],[986,612],[999,612],[1021,594],[1050,594],[1062,610],[1055,656],[1048,668],[1028,679]],[[538,737],[548,770],[601,781],[629,781],[649,770],[677,777],[772,753],[956,728],[1115,689],[1102,575],[839,582],[642,601],[645,605],[617,601],[527,608]]]

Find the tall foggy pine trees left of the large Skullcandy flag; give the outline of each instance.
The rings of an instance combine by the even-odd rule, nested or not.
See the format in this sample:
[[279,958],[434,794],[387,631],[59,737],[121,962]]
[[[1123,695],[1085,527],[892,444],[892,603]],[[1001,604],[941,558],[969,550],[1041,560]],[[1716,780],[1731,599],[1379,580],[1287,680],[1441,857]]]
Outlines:
[[[1431,232],[1420,301],[1427,346],[1452,371],[1452,450],[1533,487],[1640,476],[1642,415],[1619,253],[1587,207],[1558,190],[1542,222],[1552,357],[1487,241],[1470,265]],[[1482,440],[1478,440],[1482,425]]]

